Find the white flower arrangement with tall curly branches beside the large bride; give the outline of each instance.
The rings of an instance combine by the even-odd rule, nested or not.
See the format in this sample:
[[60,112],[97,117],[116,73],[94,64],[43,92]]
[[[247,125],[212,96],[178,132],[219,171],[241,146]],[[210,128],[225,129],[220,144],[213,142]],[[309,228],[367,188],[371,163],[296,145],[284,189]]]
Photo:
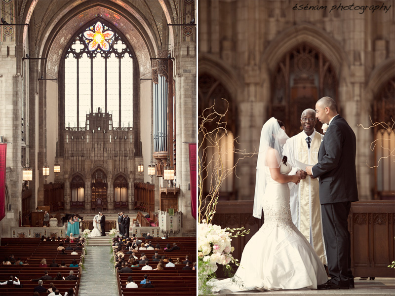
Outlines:
[[[252,157],[255,153],[245,153],[235,148],[237,139],[233,140],[231,148],[225,146],[227,122],[224,120],[228,111],[228,101],[222,99],[220,106],[214,104],[206,108],[199,116],[198,129],[198,246],[197,246],[197,269],[198,269],[198,294],[211,294],[211,288],[207,281],[215,278],[217,264],[223,265],[226,273],[231,275],[230,263],[238,265],[238,260],[232,257],[235,250],[232,247],[232,238],[244,236],[249,230],[241,228],[222,228],[213,225],[213,217],[218,204],[219,192],[225,179],[231,174],[236,175],[238,161],[245,157]],[[222,110],[222,111],[221,111]],[[234,154],[235,162],[226,165],[223,159],[227,154]],[[206,188],[203,186],[206,185]],[[208,191],[206,192],[205,191]],[[237,231],[237,232],[236,232]],[[236,233],[235,233],[236,232]]]

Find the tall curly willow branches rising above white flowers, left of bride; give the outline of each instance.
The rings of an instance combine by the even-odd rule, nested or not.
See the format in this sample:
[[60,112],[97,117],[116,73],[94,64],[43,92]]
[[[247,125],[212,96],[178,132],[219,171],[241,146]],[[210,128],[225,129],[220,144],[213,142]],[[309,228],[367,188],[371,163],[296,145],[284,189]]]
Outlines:
[[[197,165],[199,168],[198,188],[199,188],[199,204],[198,204],[198,222],[205,220],[211,223],[216,211],[219,193],[225,179],[230,175],[236,174],[236,167],[240,160],[249,157],[255,153],[246,153],[245,149],[240,150],[235,147],[238,145],[237,138],[233,139],[231,148],[224,148],[224,144],[220,144],[224,137],[228,136],[227,122],[224,120],[229,110],[229,103],[226,102],[227,108],[224,113],[215,110],[215,101],[212,106],[203,110],[199,116],[201,121],[198,128],[198,157]],[[212,130],[207,129],[207,125],[213,126]],[[211,152],[211,153],[209,153]],[[237,155],[238,158],[233,166],[225,167],[224,159],[228,154]],[[211,174],[210,174],[211,173]],[[209,183],[208,193],[204,195],[203,185]]]

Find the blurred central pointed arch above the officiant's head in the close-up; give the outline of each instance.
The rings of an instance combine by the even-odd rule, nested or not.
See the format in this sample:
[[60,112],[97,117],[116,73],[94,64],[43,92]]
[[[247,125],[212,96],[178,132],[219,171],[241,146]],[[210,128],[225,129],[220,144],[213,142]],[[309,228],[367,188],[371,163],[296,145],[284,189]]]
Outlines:
[[[268,115],[282,120],[288,136],[294,136],[301,131],[302,112],[315,109],[323,96],[338,103],[337,89],[338,79],[330,61],[313,46],[300,44],[285,54],[272,75]],[[317,125],[316,130],[320,127]]]

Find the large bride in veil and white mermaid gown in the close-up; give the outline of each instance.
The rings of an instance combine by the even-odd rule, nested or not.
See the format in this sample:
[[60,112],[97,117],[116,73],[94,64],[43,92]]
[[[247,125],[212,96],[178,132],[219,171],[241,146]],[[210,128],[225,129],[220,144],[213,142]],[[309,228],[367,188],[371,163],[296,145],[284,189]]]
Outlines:
[[259,147],[253,216],[265,222],[245,245],[234,278],[210,280],[220,290],[316,289],[328,277],[324,266],[303,234],[292,223],[288,176],[291,166],[283,160],[282,145],[288,136],[276,118],[262,128]]

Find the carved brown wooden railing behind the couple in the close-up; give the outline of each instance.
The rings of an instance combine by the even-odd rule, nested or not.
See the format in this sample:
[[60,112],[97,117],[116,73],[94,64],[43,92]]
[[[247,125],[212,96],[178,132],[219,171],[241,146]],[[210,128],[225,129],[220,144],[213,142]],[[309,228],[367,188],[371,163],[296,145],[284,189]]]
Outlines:
[[[233,256],[241,259],[245,244],[264,221],[252,217],[253,201],[219,201],[214,224],[251,229],[250,234],[232,240]],[[352,203],[349,216],[351,263],[356,277],[395,277],[387,266],[395,259],[395,201],[372,200]],[[225,277],[218,268],[217,277]]]

